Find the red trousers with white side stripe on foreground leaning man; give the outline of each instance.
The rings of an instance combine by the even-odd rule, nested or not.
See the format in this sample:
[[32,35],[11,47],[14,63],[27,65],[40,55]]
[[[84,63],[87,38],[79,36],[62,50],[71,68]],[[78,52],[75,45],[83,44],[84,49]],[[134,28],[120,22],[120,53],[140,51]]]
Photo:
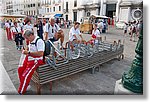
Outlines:
[[20,85],[18,88],[19,94],[24,94],[26,92],[34,71],[39,67],[39,65],[42,64],[44,64],[43,60],[28,61],[28,56],[26,56],[23,66],[18,68],[18,75],[20,80]]

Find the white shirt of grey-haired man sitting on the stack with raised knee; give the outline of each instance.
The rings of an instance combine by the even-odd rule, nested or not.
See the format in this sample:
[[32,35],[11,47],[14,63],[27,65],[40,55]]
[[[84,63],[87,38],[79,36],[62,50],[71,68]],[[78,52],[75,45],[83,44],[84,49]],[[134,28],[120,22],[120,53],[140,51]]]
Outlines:
[[61,28],[55,23],[54,26],[51,26],[51,24],[47,23],[44,27],[44,31],[48,33],[48,39],[53,39],[55,33],[57,33]]

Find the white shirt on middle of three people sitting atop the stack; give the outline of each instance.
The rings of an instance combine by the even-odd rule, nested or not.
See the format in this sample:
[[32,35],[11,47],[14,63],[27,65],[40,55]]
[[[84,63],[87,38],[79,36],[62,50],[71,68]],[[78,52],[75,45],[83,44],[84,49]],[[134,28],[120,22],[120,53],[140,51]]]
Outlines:
[[69,41],[73,41],[75,39],[74,35],[78,36],[81,35],[81,32],[79,30],[79,28],[75,29],[74,27],[72,27],[69,31]]

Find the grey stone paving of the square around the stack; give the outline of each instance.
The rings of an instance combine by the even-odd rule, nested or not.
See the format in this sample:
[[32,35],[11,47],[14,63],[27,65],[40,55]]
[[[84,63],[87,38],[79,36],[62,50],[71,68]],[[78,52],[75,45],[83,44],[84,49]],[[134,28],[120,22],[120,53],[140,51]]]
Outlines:
[[[67,39],[68,31],[68,29],[64,29],[65,39]],[[124,38],[122,30],[116,30],[111,27],[106,34],[102,34],[101,36],[103,38],[106,36],[107,41],[110,42],[118,39],[125,40],[125,58],[121,61],[112,60],[103,64],[100,72],[96,72],[95,74],[91,74],[89,70],[86,70],[81,73],[56,80],[53,82],[52,94],[114,94],[115,82],[122,77],[123,72],[130,68],[132,60],[134,59],[134,50],[137,42],[129,41],[129,36]],[[20,52],[15,49],[15,43],[13,41],[6,40],[4,30],[1,31],[0,37],[2,41],[0,46],[2,52],[0,54],[1,61],[13,85],[17,89],[19,86],[17,67],[20,59]],[[88,40],[90,35],[83,34],[83,37]],[[3,81],[5,81],[5,78]],[[27,94],[36,93],[32,82],[31,86],[32,89]],[[11,90],[11,87],[8,88]],[[42,94],[49,93],[49,84],[43,85]],[[8,93],[4,91],[2,94]]]

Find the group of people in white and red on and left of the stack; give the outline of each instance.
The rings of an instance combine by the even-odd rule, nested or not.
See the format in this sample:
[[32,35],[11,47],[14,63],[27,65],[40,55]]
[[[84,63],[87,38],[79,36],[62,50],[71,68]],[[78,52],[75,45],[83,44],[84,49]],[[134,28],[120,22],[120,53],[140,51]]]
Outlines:
[[[16,43],[16,49],[21,50],[22,54],[26,55],[22,66],[19,66],[18,68],[18,76],[20,80],[20,85],[18,88],[19,94],[24,94],[26,92],[26,90],[30,87],[29,82],[34,71],[39,65],[45,63],[43,56],[44,51],[46,50],[46,45],[44,41],[50,40],[51,42],[56,42],[60,40],[60,48],[64,48],[63,43],[65,35],[62,29],[62,26],[64,25],[61,26],[61,23],[60,25],[57,23],[58,22],[54,17],[49,18],[48,22],[46,22],[46,20],[38,19],[34,24],[31,23],[29,18],[14,22],[12,22],[12,20],[7,20],[5,22],[8,41],[14,40]],[[68,41],[71,44],[95,44],[98,42],[97,39],[100,37],[100,31],[97,29],[97,24],[94,24],[91,40],[88,42],[83,39],[82,34],[80,33],[79,25],[79,22],[75,22],[74,26],[72,26],[69,31]],[[73,47],[74,46],[71,45],[72,50]]]

